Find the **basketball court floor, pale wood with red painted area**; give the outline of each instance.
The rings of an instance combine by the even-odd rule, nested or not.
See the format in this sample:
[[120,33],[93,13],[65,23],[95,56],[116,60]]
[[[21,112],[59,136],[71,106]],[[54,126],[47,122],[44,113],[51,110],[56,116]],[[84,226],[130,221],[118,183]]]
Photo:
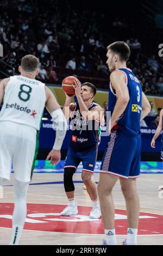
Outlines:
[[[99,174],[94,176],[98,181]],[[11,180],[6,185],[12,185],[13,179],[14,174],[11,174]],[[79,217],[60,217],[60,211],[67,204],[62,184],[63,173],[34,173],[32,185],[28,188],[28,222],[23,230],[20,245],[102,244],[104,238],[102,219],[89,220],[87,216],[92,203],[87,192],[83,190],[81,174],[74,174],[73,180]],[[163,245],[163,198],[158,196],[160,185],[163,185],[163,174],[141,174],[137,179],[141,215],[143,215],[140,217],[138,245]],[[8,245],[11,236],[10,218],[14,202],[12,190],[13,186],[5,186],[3,199],[0,199],[0,245]],[[123,211],[126,210],[126,206],[119,181],[114,188],[113,196],[117,214],[116,238],[117,244],[121,245],[126,237],[127,221],[121,220],[126,218],[126,213]],[[5,218],[2,215],[5,215]],[[31,218],[36,223],[29,223]],[[76,222],[77,219],[80,221]],[[39,220],[40,223],[37,223]]]

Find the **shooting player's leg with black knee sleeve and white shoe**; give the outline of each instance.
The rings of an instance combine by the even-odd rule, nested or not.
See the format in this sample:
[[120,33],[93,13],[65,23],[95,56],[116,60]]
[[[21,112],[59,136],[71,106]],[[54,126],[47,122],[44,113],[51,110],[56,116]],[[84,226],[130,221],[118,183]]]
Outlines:
[[77,203],[74,199],[73,174],[80,163],[76,151],[68,149],[64,167],[64,188],[68,199],[68,206],[61,212],[61,216],[70,216],[78,214]]

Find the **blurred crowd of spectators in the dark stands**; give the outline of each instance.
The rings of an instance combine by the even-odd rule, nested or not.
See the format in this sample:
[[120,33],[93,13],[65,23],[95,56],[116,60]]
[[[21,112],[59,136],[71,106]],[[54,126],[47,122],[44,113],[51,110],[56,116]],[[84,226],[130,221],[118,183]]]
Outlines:
[[[45,83],[61,84],[65,76],[74,75],[81,82],[108,89],[106,46],[124,40],[131,48],[128,68],[139,78],[143,92],[163,95],[163,58],[158,56],[162,30],[153,23],[149,26],[141,14],[135,19],[122,12],[115,18],[105,6],[94,10],[87,3],[86,7],[75,1],[4,0],[0,6],[2,59],[18,73],[21,58],[34,54],[40,59],[37,79]],[[4,66],[8,75],[10,66]],[[156,115],[153,125],[158,113],[152,108],[149,114]]]

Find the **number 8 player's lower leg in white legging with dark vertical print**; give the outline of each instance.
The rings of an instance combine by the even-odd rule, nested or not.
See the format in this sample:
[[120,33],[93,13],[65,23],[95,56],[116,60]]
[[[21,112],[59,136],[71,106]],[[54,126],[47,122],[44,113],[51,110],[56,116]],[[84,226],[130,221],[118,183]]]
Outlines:
[[12,215],[12,237],[10,245],[18,245],[24,222],[27,215],[27,189],[28,182],[15,180],[14,182],[14,212]]

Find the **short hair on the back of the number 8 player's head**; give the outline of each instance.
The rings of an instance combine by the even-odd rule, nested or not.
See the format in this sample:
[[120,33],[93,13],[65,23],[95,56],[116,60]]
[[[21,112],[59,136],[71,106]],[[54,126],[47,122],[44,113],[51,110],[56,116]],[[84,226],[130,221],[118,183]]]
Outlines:
[[32,54],[28,54],[22,58],[21,67],[24,71],[34,72],[39,68],[39,59]]

